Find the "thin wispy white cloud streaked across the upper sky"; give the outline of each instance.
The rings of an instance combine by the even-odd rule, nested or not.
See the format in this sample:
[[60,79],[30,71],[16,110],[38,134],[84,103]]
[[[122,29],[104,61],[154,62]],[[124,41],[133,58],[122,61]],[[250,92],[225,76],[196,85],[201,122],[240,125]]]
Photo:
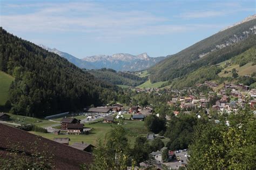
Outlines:
[[[1,15],[4,29],[23,32],[81,32],[94,35],[96,39],[112,40],[130,36],[168,35],[172,33],[223,28],[223,25],[174,25],[169,18],[150,12],[110,9],[100,3],[45,3],[6,5],[10,10],[33,8],[33,12]],[[28,10],[29,11],[29,10]],[[183,13],[181,17],[210,17],[223,12],[204,11]]]

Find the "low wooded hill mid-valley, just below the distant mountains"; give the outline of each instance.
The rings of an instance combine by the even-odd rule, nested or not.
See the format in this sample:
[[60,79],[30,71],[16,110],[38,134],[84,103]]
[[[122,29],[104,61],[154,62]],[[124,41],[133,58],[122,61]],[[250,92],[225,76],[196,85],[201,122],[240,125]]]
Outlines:
[[147,77],[138,77],[126,72],[117,72],[113,69],[99,69],[87,71],[97,79],[105,80],[116,85],[138,86],[147,80]]

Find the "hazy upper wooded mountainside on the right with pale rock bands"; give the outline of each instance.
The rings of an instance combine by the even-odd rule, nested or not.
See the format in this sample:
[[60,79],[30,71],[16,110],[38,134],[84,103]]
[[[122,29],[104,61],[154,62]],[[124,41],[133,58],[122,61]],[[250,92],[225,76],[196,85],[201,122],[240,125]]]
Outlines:
[[250,49],[256,44],[255,25],[256,19],[253,19],[167,56],[148,70],[151,82],[182,77],[201,66],[217,64]]

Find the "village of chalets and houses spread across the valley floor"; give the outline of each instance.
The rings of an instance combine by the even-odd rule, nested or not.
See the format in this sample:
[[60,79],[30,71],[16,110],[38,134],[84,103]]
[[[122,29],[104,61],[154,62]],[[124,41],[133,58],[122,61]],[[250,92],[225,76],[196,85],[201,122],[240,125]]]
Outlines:
[[[190,114],[195,110],[203,110],[205,117],[209,120],[214,119],[215,123],[219,120],[212,114],[221,113],[228,114],[237,111],[239,108],[250,105],[251,109],[255,111],[256,104],[256,90],[242,84],[234,85],[231,83],[224,84],[221,89],[216,90],[217,84],[206,81],[204,84],[198,84],[197,87],[207,86],[209,89],[207,93],[199,92],[196,89],[186,88],[183,90],[169,89],[165,93],[170,94],[172,99],[167,101],[167,105],[173,108],[173,114],[179,117],[179,114]],[[152,89],[137,89],[137,93],[155,93],[161,96],[163,91]],[[147,106],[124,106],[122,104],[113,104],[112,106],[102,107],[88,107],[83,112],[79,113],[60,113],[45,117],[45,120],[51,121],[54,125],[44,126],[47,130],[46,138],[59,142],[60,144],[68,145],[81,151],[92,153],[96,144],[93,142],[86,142],[86,138],[95,133],[99,126],[110,128],[108,125],[129,125],[134,126],[138,124],[138,128],[144,127],[144,119],[154,114],[159,117],[159,113],[154,112],[151,105]],[[199,113],[197,117],[200,119],[202,115]],[[79,119],[81,118],[81,119]],[[165,115],[166,120],[171,119],[171,115]],[[10,115],[0,113],[0,121],[10,123]],[[138,123],[137,123],[138,122]],[[105,124],[105,125],[104,125]],[[228,126],[228,122],[226,123]],[[34,132],[32,132],[34,133]],[[99,132],[96,132],[99,133]],[[104,134],[106,132],[100,133]],[[38,134],[38,133],[34,133]],[[43,133],[39,133],[44,137]],[[51,135],[49,135],[51,134]],[[167,139],[159,134],[152,132],[141,133],[147,140],[152,141],[156,138],[163,140],[165,143]],[[81,138],[80,138],[80,137]],[[77,138],[78,137],[78,138]],[[98,137],[98,136],[97,136]],[[75,139],[73,141],[73,139]],[[84,140],[85,139],[85,140]],[[90,140],[89,140],[90,141]],[[167,147],[159,149],[159,151],[150,153],[151,160],[140,162],[140,167],[148,168],[151,166],[163,169],[167,167],[176,169],[180,166],[185,167],[188,162],[187,149],[180,149],[177,151],[168,151],[167,161],[163,159],[163,152]]]

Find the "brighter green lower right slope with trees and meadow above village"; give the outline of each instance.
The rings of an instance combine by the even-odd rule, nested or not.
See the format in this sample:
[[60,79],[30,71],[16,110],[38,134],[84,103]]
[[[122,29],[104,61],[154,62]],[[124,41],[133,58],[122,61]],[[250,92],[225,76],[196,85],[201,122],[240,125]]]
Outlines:
[[[253,37],[255,36],[252,36],[251,38]],[[249,42],[247,41],[247,43]],[[237,45],[242,46],[242,44],[240,43]],[[256,46],[253,46],[245,52],[242,52],[240,55],[231,55],[233,56],[231,59],[227,59],[222,63],[202,66],[199,69],[188,73],[183,77],[169,81],[169,83],[167,84],[170,85],[173,89],[182,89],[184,87],[195,86],[198,83],[204,83],[205,81],[214,80],[218,84],[224,83],[224,81],[233,81],[250,86],[256,81],[253,73],[256,71],[255,50]],[[228,57],[228,55],[226,56]],[[218,57],[214,59],[217,58]],[[211,62],[211,60],[209,59],[208,62]],[[199,63],[199,60],[194,63]],[[245,75],[251,77],[246,78],[244,77]]]

